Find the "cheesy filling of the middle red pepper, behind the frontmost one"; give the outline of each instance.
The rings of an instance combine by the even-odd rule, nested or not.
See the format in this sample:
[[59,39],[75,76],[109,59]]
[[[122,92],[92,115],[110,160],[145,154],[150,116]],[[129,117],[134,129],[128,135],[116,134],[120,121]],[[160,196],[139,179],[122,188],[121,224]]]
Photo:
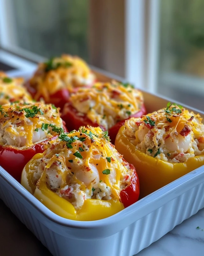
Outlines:
[[86,115],[93,123],[108,130],[140,110],[143,97],[142,92],[132,85],[112,81],[96,83],[89,89],[81,88],[71,95],[70,102],[79,115]]

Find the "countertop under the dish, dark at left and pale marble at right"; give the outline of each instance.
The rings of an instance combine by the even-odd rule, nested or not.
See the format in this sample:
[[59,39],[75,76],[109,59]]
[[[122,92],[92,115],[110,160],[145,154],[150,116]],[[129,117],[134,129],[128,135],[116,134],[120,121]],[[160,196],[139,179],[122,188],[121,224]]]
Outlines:
[[[0,200],[0,256],[51,255]],[[200,227],[200,228],[196,228]],[[185,220],[138,256],[204,255],[204,209]],[[85,256],[85,255],[84,255]]]

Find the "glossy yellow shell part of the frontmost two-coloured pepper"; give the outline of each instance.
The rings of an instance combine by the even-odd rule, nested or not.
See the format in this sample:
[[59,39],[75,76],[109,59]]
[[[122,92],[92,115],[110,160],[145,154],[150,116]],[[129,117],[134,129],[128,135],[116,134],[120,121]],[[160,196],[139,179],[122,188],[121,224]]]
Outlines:
[[124,209],[119,199],[107,201],[87,199],[84,201],[82,208],[76,211],[70,202],[58,196],[47,187],[45,172],[35,185],[32,181],[34,161],[42,156],[43,154],[36,154],[28,164],[25,165],[21,176],[21,184],[52,212],[70,220],[89,221],[107,218]]

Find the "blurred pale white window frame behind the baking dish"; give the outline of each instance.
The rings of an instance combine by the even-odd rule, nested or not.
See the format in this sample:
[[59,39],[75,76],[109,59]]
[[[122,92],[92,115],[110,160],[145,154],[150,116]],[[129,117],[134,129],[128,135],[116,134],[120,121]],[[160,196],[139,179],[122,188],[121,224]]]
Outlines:
[[[180,89],[187,88],[189,93],[201,91],[199,88],[203,84],[203,79],[198,77],[176,72],[168,72],[158,77],[161,0],[124,1],[125,80],[135,84],[137,88],[152,93],[159,92],[159,83],[168,84],[172,89],[175,86]],[[107,4],[108,2],[106,6]],[[34,70],[35,63],[46,58],[15,46],[16,31],[12,27],[12,2],[0,0],[0,6],[0,60],[18,69]],[[204,91],[200,93],[204,94]]]

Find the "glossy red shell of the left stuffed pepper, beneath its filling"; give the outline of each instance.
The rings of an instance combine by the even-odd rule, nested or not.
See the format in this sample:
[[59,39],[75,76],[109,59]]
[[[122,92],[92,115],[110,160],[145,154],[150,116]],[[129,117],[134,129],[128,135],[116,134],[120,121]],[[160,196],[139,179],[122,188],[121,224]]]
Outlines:
[[[68,132],[64,122],[63,124],[64,132]],[[57,138],[57,136],[49,140],[55,138]],[[27,164],[35,154],[43,153],[49,140],[46,139],[25,149],[18,149],[9,145],[0,145],[0,165],[11,174],[14,179],[20,182],[21,172],[25,164]]]

